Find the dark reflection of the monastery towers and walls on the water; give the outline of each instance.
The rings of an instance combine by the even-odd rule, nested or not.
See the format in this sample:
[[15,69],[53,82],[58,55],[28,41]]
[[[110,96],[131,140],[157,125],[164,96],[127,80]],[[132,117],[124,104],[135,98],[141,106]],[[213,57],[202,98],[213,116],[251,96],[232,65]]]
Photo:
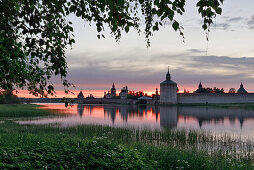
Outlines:
[[[84,112],[90,116],[96,108],[104,109],[104,118],[108,118],[112,124],[126,123],[134,119],[143,119],[148,114],[153,115],[156,122],[160,123],[162,128],[176,128],[180,120],[188,122],[195,120],[200,128],[205,124],[223,124],[225,121],[230,124],[236,124],[242,128],[244,122],[254,120],[254,110],[245,109],[224,109],[212,107],[176,107],[176,106],[158,106],[158,105],[78,105],[78,114],[82,117]],[[193,123],[193,121],[192,121]]]

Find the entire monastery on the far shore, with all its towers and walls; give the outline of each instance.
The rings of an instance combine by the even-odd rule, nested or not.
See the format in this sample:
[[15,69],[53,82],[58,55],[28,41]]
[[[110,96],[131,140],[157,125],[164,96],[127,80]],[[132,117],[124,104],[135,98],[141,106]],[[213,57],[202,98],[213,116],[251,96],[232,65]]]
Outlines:
[[[148,104],[210,104],[210,103],[254,103],[254,93],[247,93],[241,83],[237,93],[177,93],[177,83],[171,80],[169,71],[166,80],[160,83],[160,96],[157,93],[152,100],[147,100]],[[200,83],[198,90],[202,91]],[[119,96],[116,95],[115,84],[108,93],[104,93],[102,99],[84,99],[82,92],[78,95],[78,103],[118,103],[136,104],[138,100],[128,99],[128,87],[123,87]]]

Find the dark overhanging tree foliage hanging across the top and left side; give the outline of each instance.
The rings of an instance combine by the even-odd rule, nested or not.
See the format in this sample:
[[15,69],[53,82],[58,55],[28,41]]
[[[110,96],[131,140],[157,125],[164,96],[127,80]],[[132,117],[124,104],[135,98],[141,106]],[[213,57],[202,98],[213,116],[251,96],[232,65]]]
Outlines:
[[[198,12],[203,29],[217,14],[221,14],[223,0],[199,0]],[[98,38],[110,28],[116,41],[135,29],[149,37],[165,22],[183,36],[183,27],[175,19],[185,12],[185,0],[2,0],[0,2],[0,88],[24,88],[35,95],[53,95],[50,79],[60,76],[68,92],[65,50],[75,43],[72,23],[75,15],[86,23],[95,23]],[[142,25],[144,25],[144,28]],[[168,25],[168,24],[166,24]],[[144,29],[144,30],[142,30]]]

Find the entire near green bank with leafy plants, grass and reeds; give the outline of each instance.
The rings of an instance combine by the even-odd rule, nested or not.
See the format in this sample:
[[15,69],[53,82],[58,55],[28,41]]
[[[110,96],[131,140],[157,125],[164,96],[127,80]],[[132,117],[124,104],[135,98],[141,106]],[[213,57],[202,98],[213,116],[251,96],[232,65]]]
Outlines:
[[252,152],[251,142],[205,132],[0,124],[0,169],[253,169]]

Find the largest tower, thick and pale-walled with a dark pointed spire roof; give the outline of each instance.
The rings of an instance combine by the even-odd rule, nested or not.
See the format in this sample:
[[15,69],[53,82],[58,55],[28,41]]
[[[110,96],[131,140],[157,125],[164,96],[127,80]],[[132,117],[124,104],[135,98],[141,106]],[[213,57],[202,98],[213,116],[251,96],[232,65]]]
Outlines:
[[160,103],[177,104],[177,84],[171,80],[169,69],[166,80],[160,83]]

